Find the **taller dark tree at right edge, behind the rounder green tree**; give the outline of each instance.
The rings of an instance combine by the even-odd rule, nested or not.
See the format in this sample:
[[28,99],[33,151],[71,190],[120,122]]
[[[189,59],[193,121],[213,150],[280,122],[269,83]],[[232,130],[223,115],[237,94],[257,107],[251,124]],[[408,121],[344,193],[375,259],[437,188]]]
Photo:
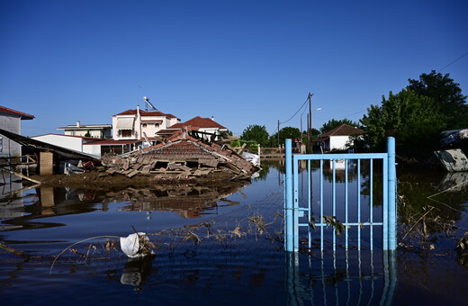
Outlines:
[[408,79],[408,88],[416,94],[425,95],[433,99],[431,107],[436,108],[446,117],[448,130],[464,129],[468,127],[468,105],[466,95],[462,94],[460,84],[455,83],[449,74],[445,76],[432,70],[423,73],[419,80]]

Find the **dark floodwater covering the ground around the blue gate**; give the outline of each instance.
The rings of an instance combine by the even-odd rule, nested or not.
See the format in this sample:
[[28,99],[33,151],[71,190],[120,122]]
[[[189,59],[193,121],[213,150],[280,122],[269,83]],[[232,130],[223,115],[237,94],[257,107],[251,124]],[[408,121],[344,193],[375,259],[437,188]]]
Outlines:
[[[262,166],[251,182],[213,187],[23,190],[26,185],[4,175],[2,304],[468,301],[468,253],[456,250],[468,232],[466,173],[397,169],[399,248],[394,257],[379,249],[379,241],[372,251],[346,252],[340,238],[335,252],[312,247],[292,255],[283,248],[284,166],[279,161]],[[312,167],[312,175],[316,171]],[[353,175],[349,180],[356,184]],[[374,211],[379,209],[375,204]],[[135,230],[148,235],[154,256],[130,259],[121,251],[120,238]],[[320,244],[316,238],[314,243]]]

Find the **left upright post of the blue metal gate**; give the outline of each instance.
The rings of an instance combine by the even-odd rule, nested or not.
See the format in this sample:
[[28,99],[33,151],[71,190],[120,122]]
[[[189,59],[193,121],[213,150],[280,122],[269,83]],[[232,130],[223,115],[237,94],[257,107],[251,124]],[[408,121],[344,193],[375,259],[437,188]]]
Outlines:
[[284,207],[285,224],[284,236],[287,252],[293,252],[293,146],[292,140],[286,139],[284,158],[286,159],[286,178],[284,181],[286,190],[286,202]]

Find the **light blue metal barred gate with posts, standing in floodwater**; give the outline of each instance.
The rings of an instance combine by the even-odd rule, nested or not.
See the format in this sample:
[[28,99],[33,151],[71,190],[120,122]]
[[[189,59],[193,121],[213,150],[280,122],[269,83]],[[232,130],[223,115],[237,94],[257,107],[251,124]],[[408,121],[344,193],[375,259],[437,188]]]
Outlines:
[[[306,238],[302,238],[302,245],[307,243],[307,247],[311,248],[311,234],[315,229],[320,229],[320,250],[323,250],[324,232],[330,228],[332,228],[330,244],[333,251],[336,250],[337,235],[340,234],[344,234],[346,249],[354,247],[360,250],[365,238],[366,246],[373,250],[375,235],[382,238],[381,242],[379,239],[379,243],[382,243],[383,250],[396,249],[395,139],[392,137],[387,139],[387,153],[294,156],[292,140],[286,139],[285,159],[284,247],[286,251],[299,251],[302,233],[307,235]],[[315,180],[319,182],[315,182],[313,178],[312,161],[316,161],[314,166],[318,167],[319,175]],[[324,184],[324,164],[328,164],[330,169],[327,186]],[[344,182],[340,186],[344,190],[340,190],[339,199],[338,166],[343,167],[340,175],[345,176],[340,177],[342,183]],[[300,178],[300,169],[308,175],[305,179],[306,186],[303,185],[304,179]],[[317,170],[315,172],[317,173]],[[351,180],[350,173],[354,173]],[[362,188],[363,176],[366,179],[365,191]],[[326,192],[328,196],[325,195]],[[318,204],[317,207],[315,202]],[[329,214],[326,211],[329,211]],[[340,218],[337,217],[338,212],[341,213]],[[365,235],[362,235],[364,233]],[[356,246],[351,246],[352,238],[355,238],[353,241],[356,241]]]

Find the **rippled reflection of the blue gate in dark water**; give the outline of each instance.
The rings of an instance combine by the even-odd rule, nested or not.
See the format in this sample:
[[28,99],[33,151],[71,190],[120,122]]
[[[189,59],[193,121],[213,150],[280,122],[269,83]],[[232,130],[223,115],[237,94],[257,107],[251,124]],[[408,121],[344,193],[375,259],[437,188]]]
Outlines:
[[320,258],[286,252],[288,305],[390,305],[397,284],[395,252],[346,252]]

